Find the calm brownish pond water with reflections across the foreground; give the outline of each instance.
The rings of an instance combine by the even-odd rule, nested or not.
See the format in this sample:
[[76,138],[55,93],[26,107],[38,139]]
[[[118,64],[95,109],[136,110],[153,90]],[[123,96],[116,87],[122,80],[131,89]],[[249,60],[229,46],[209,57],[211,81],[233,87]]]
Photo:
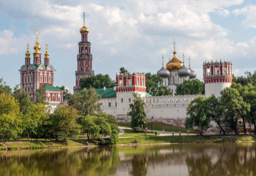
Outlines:
[[0,175],[256,175],[256,144],[0,151]]

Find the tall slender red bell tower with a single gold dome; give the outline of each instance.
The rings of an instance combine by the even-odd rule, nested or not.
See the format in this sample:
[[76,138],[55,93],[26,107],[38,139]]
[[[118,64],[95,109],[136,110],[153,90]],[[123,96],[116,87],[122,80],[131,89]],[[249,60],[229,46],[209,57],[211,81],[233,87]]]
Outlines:
[[[85,14],[84,14],[85,17]],[[81,41],[78,43],[77,70],[75,71],[74,93],[80,90],[80,79],[94,75],[93,55],[91,55],[91,42],[88,41],[89,29],[84,26],[80,29]]]

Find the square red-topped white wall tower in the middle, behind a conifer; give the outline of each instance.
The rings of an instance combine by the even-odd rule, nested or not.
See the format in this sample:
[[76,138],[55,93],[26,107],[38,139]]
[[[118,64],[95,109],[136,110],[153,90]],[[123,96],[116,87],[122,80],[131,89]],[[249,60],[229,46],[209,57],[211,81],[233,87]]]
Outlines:
[[116,75],[116,118],[127,118],[129,104],[133,103],[134,93],[140,97],[146,96],[146,76],[140,73]]

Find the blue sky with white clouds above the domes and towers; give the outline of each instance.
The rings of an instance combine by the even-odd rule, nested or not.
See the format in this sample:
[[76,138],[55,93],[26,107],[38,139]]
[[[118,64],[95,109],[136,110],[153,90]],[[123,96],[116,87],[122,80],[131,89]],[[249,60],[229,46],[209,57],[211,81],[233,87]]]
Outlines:
[[202,80],[203,61],[229,60],[236,76],[256,70],[256,2],[253,0],[110,0],[110,1],[0,1],[0,77],[10,86],[20,83],[26,43],[34,52],[39,30],[41,52],[48,43],[55,86],[71,91],[75,84],[76,55],[82,12],[93,54],[95,74],[112,79],[120,67],[130,72],[156,73],[177,57]]

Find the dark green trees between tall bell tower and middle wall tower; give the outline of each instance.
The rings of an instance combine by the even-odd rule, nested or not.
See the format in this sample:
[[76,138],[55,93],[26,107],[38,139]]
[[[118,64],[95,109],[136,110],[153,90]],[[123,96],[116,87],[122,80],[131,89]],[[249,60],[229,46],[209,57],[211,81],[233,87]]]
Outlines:
[[116,86],[114,80],[112,80],[109,75],[93,75],[91,77],[84,77],[80,80],[81,88],[111,88]]

